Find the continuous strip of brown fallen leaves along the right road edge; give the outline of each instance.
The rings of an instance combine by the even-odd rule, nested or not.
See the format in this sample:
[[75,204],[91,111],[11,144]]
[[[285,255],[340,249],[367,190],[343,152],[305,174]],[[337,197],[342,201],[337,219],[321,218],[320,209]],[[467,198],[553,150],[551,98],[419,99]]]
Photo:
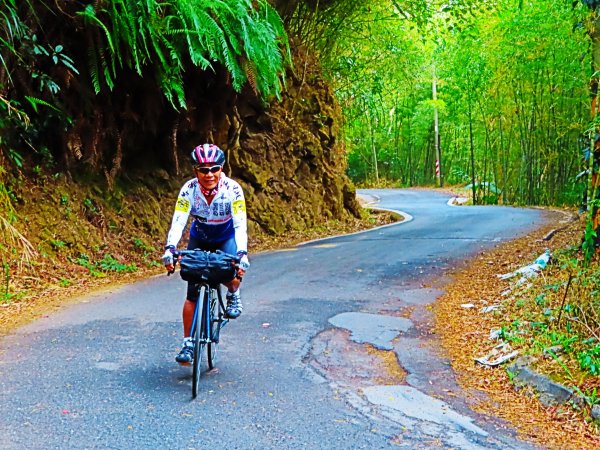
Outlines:
[[[557,213],[558,214],[558,213]],[[511,422],[519,435],[551,449],[599,448],[600,436],[593,425],[569,407],[544,407],[531,392],[517,392],[504,366],[486,367],[474,358],[489,352],[494,343],[490,330],[497,329],[502,314],[486,314],[484,306],[498,303],[508,282],[499,274],[530,264],[544,252],[561,249],[581,239],[582,225],[573,221],[563,226],[549,241],[542,240],[556,222],[526,237],[501,244],[475,257],[466,270],[456,273],[446,293],[435,305],[436,332],[452,361],[461,385],[478,397],[484,394],[476,409]],[[463,308],[472,303],[476,307]]]

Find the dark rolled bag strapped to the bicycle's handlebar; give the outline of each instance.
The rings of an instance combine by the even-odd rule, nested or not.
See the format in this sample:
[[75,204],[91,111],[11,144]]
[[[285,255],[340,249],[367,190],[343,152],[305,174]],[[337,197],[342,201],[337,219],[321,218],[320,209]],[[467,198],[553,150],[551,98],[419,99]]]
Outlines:
[[197,251],[181,258],[180,266],[181,278],[194,283],[227,283],[236,274],[231,257],[220,253]]

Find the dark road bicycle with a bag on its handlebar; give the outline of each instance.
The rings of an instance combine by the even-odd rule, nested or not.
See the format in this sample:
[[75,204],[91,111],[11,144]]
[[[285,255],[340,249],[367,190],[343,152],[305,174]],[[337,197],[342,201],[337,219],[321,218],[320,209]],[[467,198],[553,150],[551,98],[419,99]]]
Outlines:
[[221,328],[229,322],[221,294],[221,283],[236,276],[240,258],[220,250],[207,252],[196,249],[176,250],[173,252],[173,259],[179,262],[180,275],[184,280],[200,285],[190,333],[194,342],[192,398],[196,398],[204,347],[208,369],[212,370],[215,368]]

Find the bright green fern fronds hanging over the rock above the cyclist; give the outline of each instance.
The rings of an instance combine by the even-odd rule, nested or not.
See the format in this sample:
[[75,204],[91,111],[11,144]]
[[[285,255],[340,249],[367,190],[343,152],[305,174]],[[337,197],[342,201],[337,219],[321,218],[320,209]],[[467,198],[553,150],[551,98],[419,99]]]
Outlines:
[[290,62],[287,35],[264,0],[115,0],[78,13],[97,28],[88,67],[95,91],[112,89],[119,70],[153,71],[167,99],[185,108],[186,61],[203,70],[220,63],[233,88],[246,82],[263,97],[279,97]]

